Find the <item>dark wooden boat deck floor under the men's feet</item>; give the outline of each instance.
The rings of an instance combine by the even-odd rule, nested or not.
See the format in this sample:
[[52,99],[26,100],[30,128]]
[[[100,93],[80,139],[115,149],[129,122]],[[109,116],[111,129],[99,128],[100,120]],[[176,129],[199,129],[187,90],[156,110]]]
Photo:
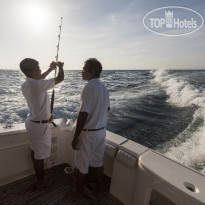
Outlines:
[[[48,188],[35,189],[34,175],[17,180],[0,187],[1,205],[67,205],[79,204],[69,199],[69,195],[75,191],[75,172],[66,174],[65,167],[61,164],[46,170],[46,178],[52,179],[53,185]],[[103,194],[101,204],[122,205],[116,198],[109,194],[110,178],[103,176]],[[85,188],[89,197],[83,199],[81,204],[98,204],[91,188]]]

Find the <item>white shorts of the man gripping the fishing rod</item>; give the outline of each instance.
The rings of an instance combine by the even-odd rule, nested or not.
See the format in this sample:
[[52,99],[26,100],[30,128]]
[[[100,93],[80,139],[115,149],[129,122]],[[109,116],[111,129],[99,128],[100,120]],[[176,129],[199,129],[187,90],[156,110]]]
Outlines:
[[26,121],[26,131],[31,140],[35,159],[46,159],[51,154],[51,130],[48,123]]

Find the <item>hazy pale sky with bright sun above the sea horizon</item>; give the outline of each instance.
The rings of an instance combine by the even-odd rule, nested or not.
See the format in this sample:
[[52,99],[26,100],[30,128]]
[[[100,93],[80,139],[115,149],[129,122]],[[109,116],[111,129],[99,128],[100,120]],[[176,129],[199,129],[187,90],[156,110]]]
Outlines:
[[205,19],[205,0],[0,0],[0,69],[24,58],[47,69],[59,61],[81,70],[95,57],[104,70],[205,69],[205,26],[183,36],[158,35],[143,18],[167,6],[193,9]]

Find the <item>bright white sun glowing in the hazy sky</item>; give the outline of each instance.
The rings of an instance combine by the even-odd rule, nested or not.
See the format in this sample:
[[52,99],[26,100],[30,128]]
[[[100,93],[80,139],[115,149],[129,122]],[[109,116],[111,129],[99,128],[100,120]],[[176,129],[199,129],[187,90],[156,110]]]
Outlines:
[[39,32],[48,24],[48,11],[43,4],[33,2],[24,5],[23,15],[26,24],[32,31]]

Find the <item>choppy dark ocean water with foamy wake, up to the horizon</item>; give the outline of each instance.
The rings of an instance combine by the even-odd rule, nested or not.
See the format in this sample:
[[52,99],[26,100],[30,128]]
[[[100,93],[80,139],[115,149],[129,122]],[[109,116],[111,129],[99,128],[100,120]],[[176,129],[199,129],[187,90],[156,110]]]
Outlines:
[[[204,79],[205,70],[103,71],[107,130],[205,173]],[[24,80],[20,71],[0,70],[0,123],[25,122]],[[55,88],[54,118],[76,119],[85,83],[81,71],[65,71]]]

